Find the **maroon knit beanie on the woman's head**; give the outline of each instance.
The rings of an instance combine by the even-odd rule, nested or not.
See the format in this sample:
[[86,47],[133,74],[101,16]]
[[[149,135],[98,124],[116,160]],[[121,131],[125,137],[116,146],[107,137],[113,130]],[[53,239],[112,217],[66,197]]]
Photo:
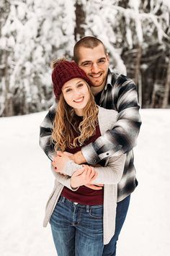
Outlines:
[[86,73],[75,62],[61,60],[55,64],[52,73],[52,81],[53,91],[57,99],[61,95],[61,88],[65,82],[68,82],[73,78],[82,78],[89,84],[89,86],[91,86],[91,81],[86,76]]

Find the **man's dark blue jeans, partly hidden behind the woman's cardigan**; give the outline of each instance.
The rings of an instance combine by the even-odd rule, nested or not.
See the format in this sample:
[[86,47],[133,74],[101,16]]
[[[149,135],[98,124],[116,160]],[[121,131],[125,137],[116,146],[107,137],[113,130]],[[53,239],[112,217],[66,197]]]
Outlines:
[[102,256],[116,255],[116,244],[117,244],[120,231],[122,229],[122,225],[128,213],[129,203],[130,203],[130,195],[126,197],[124,200],[117,202],[115,234],[110,240],[109,244],[104,245]]

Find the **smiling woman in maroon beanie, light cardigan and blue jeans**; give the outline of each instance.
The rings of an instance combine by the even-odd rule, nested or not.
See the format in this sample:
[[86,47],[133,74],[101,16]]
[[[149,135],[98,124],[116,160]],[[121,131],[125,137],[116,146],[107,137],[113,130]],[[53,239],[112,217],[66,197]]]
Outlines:
[[[95,104],[91,82],[76,63],[55,61],[52,80],[58,99],[52,134],[55,151],[76,153],[112,129],[117,112]],[[117,183],[125,155],[110,157],[95,168],[79,166],[67,155],[62,157],[66,160],[65,176],[53,170],[55,187],[44,226],[50,221],[58,256],[102,255],[104,244],[115,232]],[[88,184],[104,184],[104,189],[93,190]]]

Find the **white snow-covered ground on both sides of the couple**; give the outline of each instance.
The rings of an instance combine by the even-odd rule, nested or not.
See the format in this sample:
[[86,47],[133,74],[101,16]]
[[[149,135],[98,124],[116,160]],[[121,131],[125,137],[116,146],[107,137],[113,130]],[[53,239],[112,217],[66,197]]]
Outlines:
[[[170,109],[143,109],[135,148],[139,186],[117,245],[117,256],[169,256]],[[0,255],[55,256],[50,226],[42,228],[53,188],[38,145],[45,112],[0,119]],[[88,255],[87,255],[88,256]]]

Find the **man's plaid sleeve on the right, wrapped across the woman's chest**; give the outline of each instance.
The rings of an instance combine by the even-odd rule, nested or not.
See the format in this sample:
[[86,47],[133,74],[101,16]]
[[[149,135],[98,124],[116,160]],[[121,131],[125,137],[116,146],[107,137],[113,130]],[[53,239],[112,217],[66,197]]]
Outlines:
[[138,93],[136,85],[125,76],[120,76],[114,85],[114,101],[117,108],[117,121],[94,142],[81,148],[89,164],[95,164],[104,158],[118,156],[132,150],[140,130]]

